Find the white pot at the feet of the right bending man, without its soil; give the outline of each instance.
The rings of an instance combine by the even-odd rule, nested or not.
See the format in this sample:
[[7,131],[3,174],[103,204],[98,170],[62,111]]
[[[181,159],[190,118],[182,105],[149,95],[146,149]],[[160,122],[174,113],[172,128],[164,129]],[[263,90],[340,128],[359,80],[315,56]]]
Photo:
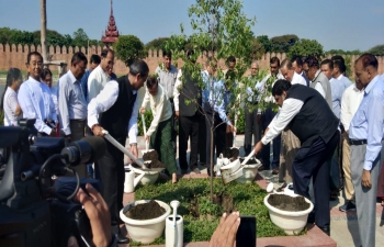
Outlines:
[[[309,207],[307,210],[297,211],[297,212],[283,211],[272,206],[268,202],[268,199],[270,195],[271,194],[268,194],[264,198],[264,204],[269,210],[269,215],[273,224],[284,229],[287,235],[298,234],[307,224],[308,214],[313,211],[314,204],[308,199],[304,198],[305,201],[309,203]],[[287,197],[291,197],[291,195],[287,195]],[[294,195],[294,197],[302,197],[302,195]]]

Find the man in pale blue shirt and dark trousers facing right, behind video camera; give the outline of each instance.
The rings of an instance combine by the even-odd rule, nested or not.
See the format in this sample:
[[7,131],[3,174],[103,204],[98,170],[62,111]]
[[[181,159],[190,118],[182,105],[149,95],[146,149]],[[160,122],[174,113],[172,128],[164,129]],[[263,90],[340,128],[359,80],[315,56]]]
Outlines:
[[[71,67],[59,79],[58,110],[60,112],[61,130],[68,143],[84,137],[87,120],[87,101],[81,88],[81,78],[86,72],[88,59],[81,53],[75,53]],[[77,166],[80,178],[87,175],[86,166]]]

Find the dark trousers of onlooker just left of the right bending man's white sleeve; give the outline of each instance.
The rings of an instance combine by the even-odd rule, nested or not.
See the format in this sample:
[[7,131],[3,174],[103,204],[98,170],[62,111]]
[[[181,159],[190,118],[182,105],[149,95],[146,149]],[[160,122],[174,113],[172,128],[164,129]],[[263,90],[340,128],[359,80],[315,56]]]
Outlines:
[[[261,127],[258,123],[258,110],[253,110],[250,112],[248,108],[245,109],[245,119],[246,119],[246,132],[244,138],[244,150],[246,151],[246,156],[252,149],[260,139],[261,139]],[[252,136],[253,136],[253,145],[252,145]]]

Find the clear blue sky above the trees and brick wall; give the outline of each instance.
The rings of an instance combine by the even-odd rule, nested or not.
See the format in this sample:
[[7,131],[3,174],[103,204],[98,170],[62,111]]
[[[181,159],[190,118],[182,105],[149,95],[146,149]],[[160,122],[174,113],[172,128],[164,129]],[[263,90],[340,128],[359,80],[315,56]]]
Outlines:
[[[82,27],[100,40],[108,26],[110,0],[47,0],[47,27],[72,35]],[[180,34],[183,23],[191,34],[188,8],[195,0],[113,0],[120,34],[133,34],[144,44]],[[325,50],[360,49],[384,44],[384,0],[244,0],[244,12],[256,16],[256,36],[296,34],[317,40]],[[1,0],[0,27],[41,29],[39,0]]]

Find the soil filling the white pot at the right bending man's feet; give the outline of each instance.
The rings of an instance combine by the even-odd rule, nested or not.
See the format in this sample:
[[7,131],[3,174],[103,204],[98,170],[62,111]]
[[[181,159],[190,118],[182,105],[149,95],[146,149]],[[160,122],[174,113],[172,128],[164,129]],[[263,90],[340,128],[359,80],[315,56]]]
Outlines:
[[309,203],[307,203],[304,197],[290,197],[286,194],[271,194],[268,199],[268,203],[272,206],[290,212],[298,212],[309,209]]

